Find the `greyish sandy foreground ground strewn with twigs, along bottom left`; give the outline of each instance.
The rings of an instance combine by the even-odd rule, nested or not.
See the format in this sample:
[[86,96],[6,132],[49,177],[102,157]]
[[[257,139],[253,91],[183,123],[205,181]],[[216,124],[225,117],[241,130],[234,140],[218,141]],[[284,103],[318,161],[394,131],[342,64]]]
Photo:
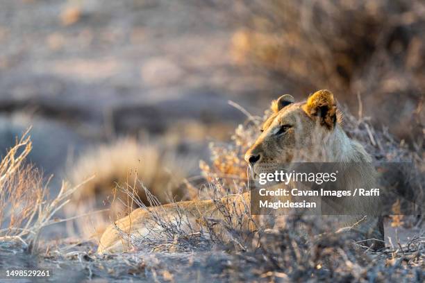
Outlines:
[[[385,228],[385,237],[403,244],[419,229]],[[387,246],[390,242],[387,241]],[[42,243],[42,252],[31,255],[19,244],[0,244],[0,271],[10,268],[49,268],[51,277],[12,282],[239,282],[258,280],[255,261],[223,251],[130,252],[122,255],[95,255],[96,244],[67,239]],[[44,250],[44,252],[43,252]],[[371,255],[374,257],[374,254]],[[375,255],[379,257],[379,254]],[[322,271],[326,273],[327,271]],[[326,275],[326,274],[325,274]],[[0,275],[0,282],[4,277]]]

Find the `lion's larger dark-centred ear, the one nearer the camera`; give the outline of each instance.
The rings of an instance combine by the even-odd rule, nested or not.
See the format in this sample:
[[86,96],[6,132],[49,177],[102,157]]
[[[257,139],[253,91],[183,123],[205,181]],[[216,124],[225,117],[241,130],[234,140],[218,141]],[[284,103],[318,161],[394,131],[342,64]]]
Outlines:
[[333,128],[337,121],[337,108],[332,92],[327,89],[319,90],[311,95],[303,110],[310,117],[319,117],[322,125]]

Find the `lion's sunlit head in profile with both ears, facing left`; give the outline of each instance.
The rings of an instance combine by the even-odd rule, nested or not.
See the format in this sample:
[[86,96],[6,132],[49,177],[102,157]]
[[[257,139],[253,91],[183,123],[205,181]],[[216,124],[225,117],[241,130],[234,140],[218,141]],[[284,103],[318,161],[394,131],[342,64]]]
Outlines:
[[272,102],[272,115],[263,123],[262,133],[245,160],[256,175],[283,170],[295,161],[323,161],[315,158],[318,151],[326,151],[329,137],[342,132],[335,130],[337,116],[333,94],[328,90],[319,90],[301,103],[285,94]]

